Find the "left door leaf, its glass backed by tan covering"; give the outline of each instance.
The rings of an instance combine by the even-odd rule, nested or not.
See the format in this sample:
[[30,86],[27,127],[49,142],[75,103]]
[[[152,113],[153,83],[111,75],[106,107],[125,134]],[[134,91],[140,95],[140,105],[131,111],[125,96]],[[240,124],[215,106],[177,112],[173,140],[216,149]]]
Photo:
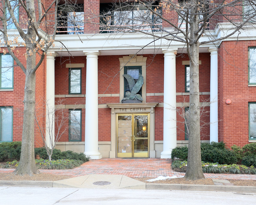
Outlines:
[[132,114],[117,118],[117,157],[132,157]]

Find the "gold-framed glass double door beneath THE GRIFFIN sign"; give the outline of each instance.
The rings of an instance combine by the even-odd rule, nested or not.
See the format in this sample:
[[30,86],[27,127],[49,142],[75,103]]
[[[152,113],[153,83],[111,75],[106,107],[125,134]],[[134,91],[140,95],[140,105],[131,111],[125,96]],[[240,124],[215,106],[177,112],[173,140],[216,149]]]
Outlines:
[[117,157],[148,157],[149,114],[117,114]]

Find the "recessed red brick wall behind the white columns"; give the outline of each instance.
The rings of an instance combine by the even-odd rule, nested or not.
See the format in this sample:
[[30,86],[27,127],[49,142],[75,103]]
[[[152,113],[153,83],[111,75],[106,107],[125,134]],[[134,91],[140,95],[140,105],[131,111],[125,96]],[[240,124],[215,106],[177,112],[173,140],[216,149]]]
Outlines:
[[[163,93],[163,54],[143,55],[147,57],[146,68],[146,90],[147,93]],[[119,57],[122,56],[98,56],[98,94],[118,94],[119,93]],[[210,53],[200,53],[202,64],[199,66],[200,72],[200,92],[210,92]],[[176,58],[176,92],[185,92],[185,65],[182,61],[189,60],[186,54],[177,55]],[[82,94],[85,93],[86,86],[86,56],[76,56],[74,58],[57,57],[55,61],[55,93],[68,94],[69,80],[66,63],[84,63],[82,68]],[[200,101],[209,101],[209,95],[200,96]],[[59,98],[56,98],[59,100]],[[147,96],[147,102],[163,103],[163,96]],[[189,102],[189,96],[177,96],[177,102]],[[64,104],[85,104],[85,98],[65,98]],[[119,103],[119,97],[99,97],[99,104]],[[208,109],[208,108],[207,108]],[[98,136],[99,141],[110,141],[111,114],[110,109],[98,110]],[[206,112],[207,113],[207,112]],[[163,107],[156,107],[155,112],[155,139],[163,140]],[[204,120],[209,122],[208,116]],[[84,121],[83,121],[84,124]],[[206,125],[206,124],[205,124]],[[184,140],[184,120],[177,114],[177,140]],[[181,132],[180,132],[181,131]],[[201,139],[209,140],[209,124],[201,132]],[[84,136],[83,136],[84,137]],[[65,139],[68,139],[66,136]],[[64,137],[61,141],[65,141]]]

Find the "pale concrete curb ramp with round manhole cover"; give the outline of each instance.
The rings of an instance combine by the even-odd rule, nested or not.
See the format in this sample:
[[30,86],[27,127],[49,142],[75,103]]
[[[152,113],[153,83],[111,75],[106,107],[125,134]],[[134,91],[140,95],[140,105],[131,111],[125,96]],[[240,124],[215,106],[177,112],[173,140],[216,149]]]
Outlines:
[[94,189],[146,189],[146,183],[144,182],[134,180],[124,175],[112,174],[88,174],[54,181],[52,186]]

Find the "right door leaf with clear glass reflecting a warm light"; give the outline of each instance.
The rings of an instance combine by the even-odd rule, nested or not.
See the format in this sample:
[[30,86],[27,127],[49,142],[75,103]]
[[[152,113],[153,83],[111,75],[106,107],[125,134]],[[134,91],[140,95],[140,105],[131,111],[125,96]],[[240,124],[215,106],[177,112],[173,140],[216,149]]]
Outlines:
[[148,114],[134,114],[134,157],[148,157]]

